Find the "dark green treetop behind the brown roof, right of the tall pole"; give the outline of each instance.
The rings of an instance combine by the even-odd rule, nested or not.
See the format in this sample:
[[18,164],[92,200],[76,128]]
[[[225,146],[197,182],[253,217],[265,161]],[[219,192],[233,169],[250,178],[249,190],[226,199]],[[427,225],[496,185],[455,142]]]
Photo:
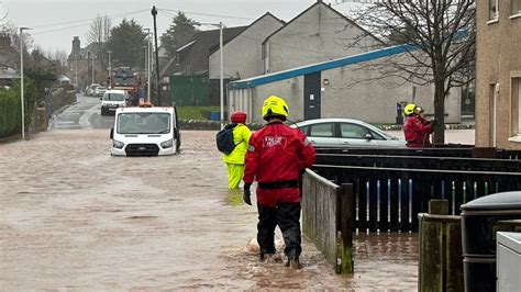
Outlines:
[[199,32],[196,25],[199,25],[199,23],[187,18],[185,13],[180,11],[177,12],[177,15],[171,21],[170,27],[168,27],[166,34],[160,37],[160,43],[167,49],[170,57],[174,57],[176,49],[190,42],[196,33]]

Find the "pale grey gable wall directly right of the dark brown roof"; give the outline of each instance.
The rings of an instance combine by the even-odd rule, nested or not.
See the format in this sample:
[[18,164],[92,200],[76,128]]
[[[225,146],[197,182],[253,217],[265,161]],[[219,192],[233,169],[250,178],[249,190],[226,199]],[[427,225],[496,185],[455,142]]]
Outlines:
[[[284,21],[267,12],[224,44],[223,78],[230,80],[263,75],[263,42],[284,24]],[[213,47],[209,57],[210,80],[220,78],[220,53],[218,45]]]

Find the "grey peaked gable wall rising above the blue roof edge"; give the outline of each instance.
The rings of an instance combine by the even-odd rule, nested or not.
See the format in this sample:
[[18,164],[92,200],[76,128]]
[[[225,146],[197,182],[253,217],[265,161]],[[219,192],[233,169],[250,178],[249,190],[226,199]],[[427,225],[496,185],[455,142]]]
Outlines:
[[264,72],[277,72],[368,52],[383,43],[318,0],[263,42]]

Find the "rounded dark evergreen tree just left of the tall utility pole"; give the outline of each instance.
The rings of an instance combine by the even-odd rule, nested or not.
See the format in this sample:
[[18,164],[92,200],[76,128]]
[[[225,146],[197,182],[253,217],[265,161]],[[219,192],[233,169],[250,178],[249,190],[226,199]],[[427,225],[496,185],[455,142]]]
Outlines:
[[134,68],[144,64],[143,46],[146,45],[146,33],[135,20],[123,21],[110,31],[108,47],[113,52],[115,66]]

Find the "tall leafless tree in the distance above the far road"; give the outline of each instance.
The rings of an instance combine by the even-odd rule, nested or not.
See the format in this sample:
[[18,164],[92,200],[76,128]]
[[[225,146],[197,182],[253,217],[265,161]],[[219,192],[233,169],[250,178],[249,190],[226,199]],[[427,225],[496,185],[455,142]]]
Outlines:
[[87,41],[90,43],[95,52],[92,52],[98,60],[101,63],[102,68],[107,68],[107,42],[110,37],[110,30],[112,23],[110,19],[104,15],[98,15],[90,24],[90,31],[87,34]]

